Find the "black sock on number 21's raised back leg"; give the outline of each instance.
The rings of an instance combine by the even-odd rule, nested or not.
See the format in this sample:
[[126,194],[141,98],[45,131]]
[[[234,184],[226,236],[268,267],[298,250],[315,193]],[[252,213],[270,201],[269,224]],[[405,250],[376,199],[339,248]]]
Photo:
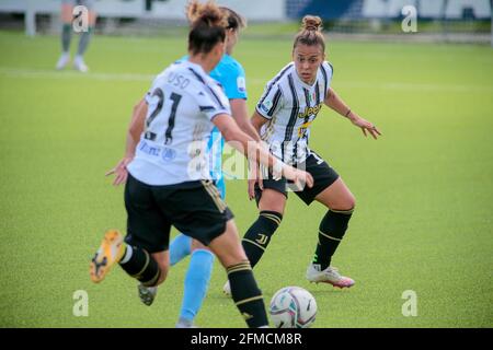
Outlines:
[[[131,256],[129,259],[125,259],[128,249],[131,249]],[[153,287],[159,280],[159,266],[158,262],[147,253],[146,249],[128,245],[124,253],[125,262],[119,262],[119,266],[130,277],[139,280],[146,287]]]

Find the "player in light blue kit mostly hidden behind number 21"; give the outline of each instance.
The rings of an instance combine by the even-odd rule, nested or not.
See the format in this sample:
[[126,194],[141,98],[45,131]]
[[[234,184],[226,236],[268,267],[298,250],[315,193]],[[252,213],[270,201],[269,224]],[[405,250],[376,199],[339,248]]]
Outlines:
[[[240,62],[232,58],[232,51],[238,43],[240,30],[246,26],[246,21],[237,12],[228,8],[220,8],[225,11],[228,20],[226,27],[226,54],[217,67],[210,72],[210,77],[217,80],[225,89],[226,96],[231,105],[231,114],[240,129],[245,131],[254,140],[260,141],[260,136],[250,122],[246,110],[246,85],[244,69]],[[226,185],[221,170],[221,154],[223,139],[217,128],[214,128],[208,142],[210,150],[211,177],[221,194],[226,197]],[[185,276],[184,295],[180,318],[176,324],[179,328],[193,327],[193,322],[197,315],[206,296],[210,275],[213,271],[214,255],[198,241],[192,240],[185,234],[179,234],[170,244],[171,266],[191,255],[188,269]],[[139,295],[147,305],[152,304],[156,298],[157,288],[139,287]]]

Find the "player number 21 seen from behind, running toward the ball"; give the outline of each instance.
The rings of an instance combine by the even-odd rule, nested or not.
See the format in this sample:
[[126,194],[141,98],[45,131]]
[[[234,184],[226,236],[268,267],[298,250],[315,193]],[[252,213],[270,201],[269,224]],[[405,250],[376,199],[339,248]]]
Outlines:
[[[226,19],[209,1],[188,4],[192,27],[188,59],[159,74],[134,113],[129,135],[145,131],[114,170],[115,184],[125,182],[127,235],[106,232],[90,266],[102,281],[116,262],[145,287],[162,283],[169,270],[171,225],[208,246],[228,272],[233,301],[249,327],[267,326],[262,293],[238,237],[232,213],[213,184],[207,142],[216,126],[239,151],[296,183],[312,186],[312,177],[273,158],[230,116],[219,83],[208,77],[225,52]],[[147,108],[145,120],[140,108]],[[246,151],[249,150],[249,151]]]

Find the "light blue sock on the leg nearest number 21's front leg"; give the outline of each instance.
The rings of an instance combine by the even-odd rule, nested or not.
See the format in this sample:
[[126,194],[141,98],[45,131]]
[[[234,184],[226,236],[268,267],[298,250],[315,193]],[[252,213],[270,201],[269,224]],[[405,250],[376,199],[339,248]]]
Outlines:
[[213,273],[214,254],[197,249],[192,253],[188,270],[185,276],[185,290],[182,301],[180,319],[193,322],[206,296]]

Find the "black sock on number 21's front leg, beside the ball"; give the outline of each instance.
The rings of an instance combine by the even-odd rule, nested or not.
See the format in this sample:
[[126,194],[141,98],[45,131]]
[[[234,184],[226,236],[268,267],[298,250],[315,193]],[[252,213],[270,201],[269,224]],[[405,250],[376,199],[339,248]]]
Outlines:
[[227,268],[231,296],[248,326],[267,326],[262,292],[256,285],[253,271],[249,261],[243,261]]

